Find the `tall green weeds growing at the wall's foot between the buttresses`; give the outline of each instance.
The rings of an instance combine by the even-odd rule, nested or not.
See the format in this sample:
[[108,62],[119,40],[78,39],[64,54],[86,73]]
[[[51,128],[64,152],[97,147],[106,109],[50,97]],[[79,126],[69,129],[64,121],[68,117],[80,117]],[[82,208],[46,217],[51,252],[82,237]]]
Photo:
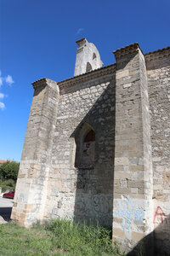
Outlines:
[[77,224],[54,219],[46,227],[54,234],[54,244],[71,255],[122,255],[119,247],[112,246],[111,230],[97,224]]

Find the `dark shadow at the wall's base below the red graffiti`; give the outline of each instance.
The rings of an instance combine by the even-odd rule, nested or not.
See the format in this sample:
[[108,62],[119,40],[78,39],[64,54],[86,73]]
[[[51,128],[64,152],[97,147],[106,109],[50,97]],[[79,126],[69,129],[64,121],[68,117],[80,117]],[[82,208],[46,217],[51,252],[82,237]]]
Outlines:
[[170,255],[170,215],[166,217],[163,211],[159,211],[156,218],[160,224],[148,236],[140,240],[133,251],[127,253],[127,256]]

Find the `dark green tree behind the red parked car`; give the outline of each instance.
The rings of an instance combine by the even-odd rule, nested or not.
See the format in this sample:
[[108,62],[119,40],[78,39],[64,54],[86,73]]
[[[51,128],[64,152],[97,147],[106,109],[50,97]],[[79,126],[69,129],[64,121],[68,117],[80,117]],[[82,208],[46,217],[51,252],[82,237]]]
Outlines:
[[0,166],[0,178],[4,181],[7,179],[13,179],[16,182],[18,177],[20,163],[15,161],[7,161]]

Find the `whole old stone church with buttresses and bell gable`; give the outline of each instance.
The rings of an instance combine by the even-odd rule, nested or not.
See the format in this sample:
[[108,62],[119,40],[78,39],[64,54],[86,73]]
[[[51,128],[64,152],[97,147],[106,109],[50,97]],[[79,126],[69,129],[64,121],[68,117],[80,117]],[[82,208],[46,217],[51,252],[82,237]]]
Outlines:
[[169,255],[170,47],[131,44],[103,67],[94,44],[77,45],[74,77],[32,83],[11,218],[99,223],[128,255]]

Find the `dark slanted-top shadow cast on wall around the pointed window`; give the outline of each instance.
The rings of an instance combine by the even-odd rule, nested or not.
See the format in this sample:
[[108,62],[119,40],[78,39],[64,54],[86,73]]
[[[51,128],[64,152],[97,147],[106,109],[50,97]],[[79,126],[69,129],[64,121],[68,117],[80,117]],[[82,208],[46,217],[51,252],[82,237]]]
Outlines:
[[111,227],[115,150],[115,76],[77,129],[74,220]]

